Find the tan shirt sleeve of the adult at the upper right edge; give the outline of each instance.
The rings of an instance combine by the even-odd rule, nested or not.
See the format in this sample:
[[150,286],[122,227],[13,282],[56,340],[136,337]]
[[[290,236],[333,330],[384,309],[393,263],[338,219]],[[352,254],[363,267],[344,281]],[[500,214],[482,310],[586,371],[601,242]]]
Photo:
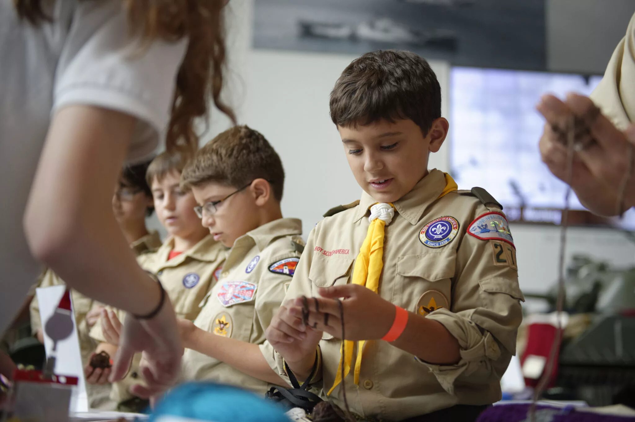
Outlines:
[[591,99],[621,131],[635,122],[635,15]]

